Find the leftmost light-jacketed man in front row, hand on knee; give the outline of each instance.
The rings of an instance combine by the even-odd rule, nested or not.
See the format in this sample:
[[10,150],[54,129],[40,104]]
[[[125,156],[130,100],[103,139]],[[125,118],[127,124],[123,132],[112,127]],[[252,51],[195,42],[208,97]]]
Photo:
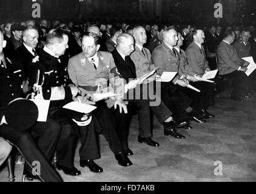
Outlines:
[[[86,98],[90,96],[91,100],[96,102],[97,109],[93,115],[99,121],[103,135],[109,142],[110,149],[115,154],[118,164],[130,166],[132,162],[127,156],[133,153],[127,144],[126,104],[121,99],[114,99],[114,101],[109,99],[105,102],[106,100],[97,99],[93,95],[96,92],[110,90],[112,80],[109,80],[109,74],[110,70],[115,67],[113,57],[108,52],[98,52],[99,37],[92,33],[86,33],[83,36],[82,44],[83,52],[69,60],[70,79],[81,88]],[[123,85],[118,85],[120,83],[113,83],[113,88],[116,90],[120,86],[123,87]],[[116,109],[117,106],[119,109]]]

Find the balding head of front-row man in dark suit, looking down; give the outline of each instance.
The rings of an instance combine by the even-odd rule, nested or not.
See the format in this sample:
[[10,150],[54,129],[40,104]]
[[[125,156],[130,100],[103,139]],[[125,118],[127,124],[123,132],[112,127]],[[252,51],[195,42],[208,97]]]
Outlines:
[[116,50],[125,56],[129,56],[134,50],[133,36],[128,33],[123,33],[116,39]]

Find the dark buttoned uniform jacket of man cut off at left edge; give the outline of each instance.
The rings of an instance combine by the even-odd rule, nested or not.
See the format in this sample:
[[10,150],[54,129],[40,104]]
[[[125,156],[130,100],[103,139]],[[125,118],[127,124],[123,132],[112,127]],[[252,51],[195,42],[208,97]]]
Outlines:
[[0,62],[0,119],[10,101],[23,97],[22,80],[24,72],[19,61],[5,58],[6,67]]

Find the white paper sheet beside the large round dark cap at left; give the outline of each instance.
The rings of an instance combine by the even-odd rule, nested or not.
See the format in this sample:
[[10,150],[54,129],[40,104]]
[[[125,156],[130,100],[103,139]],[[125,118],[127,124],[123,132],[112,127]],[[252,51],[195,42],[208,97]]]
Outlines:
[[30,99],[38,107],[38,119],[37,121],[46,122],[50,101],[45,99]]

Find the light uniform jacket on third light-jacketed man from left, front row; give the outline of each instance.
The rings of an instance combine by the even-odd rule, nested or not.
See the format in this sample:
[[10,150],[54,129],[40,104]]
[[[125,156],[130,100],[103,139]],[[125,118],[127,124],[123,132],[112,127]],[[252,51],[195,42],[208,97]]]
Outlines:
[[[157,70],[159,75],[163,72],[178,72],[180,60],[175,53],[163,42],[152,53],[152,61],[155,66],[160,67]],[[172,80],[173,83],[177,81],[180,76],[175,76]]]

